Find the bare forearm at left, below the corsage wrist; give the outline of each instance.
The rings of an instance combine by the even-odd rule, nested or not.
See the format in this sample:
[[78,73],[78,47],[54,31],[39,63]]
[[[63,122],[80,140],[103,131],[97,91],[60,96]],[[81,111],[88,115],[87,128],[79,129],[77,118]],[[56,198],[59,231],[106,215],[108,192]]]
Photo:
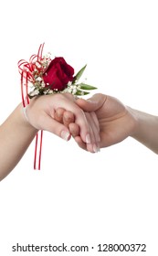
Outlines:
[[0,126],[0,180],[13,170],[36,133],[37,129],[26,122],[19,104]]

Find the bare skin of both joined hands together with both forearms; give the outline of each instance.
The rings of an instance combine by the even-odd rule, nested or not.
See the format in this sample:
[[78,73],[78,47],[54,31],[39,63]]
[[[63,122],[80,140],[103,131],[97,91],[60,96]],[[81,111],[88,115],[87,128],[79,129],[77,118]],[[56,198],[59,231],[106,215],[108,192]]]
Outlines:
[[75,101],[72,95],[37,97],[26,116],[27,121],[19,104],[0,126],[0,180],[13,170],[38,130],[67,141],[72,134],[91,153],[131,136],[158,154],[158,117],[124,106],[111,96],[95,94],[89,101]]

